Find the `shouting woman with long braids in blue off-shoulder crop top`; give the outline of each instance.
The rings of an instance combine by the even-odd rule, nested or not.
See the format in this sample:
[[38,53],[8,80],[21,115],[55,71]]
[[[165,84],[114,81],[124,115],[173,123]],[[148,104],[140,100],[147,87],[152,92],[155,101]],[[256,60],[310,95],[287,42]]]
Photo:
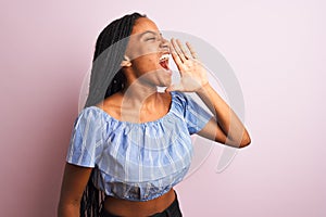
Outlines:
[[[180,73],[175,86],[170,54]],[[196,92],[214,115],[183,92]],[[189,43],[186,49],[178,40],[165,40],[156,25],[138,13],[112,22],[97,40],[89,97],[67,154],[59,216],[181,216],[173,187],[189,169],[192,133],[235,148],[250,143]]]

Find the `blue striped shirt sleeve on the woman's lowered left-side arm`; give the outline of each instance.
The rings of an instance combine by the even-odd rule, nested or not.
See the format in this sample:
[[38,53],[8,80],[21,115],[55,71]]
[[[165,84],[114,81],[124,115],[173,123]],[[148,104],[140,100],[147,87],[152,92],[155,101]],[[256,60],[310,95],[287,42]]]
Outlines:
[[84,108],[76,118],[72,131],[66,162],[95,167],[102,144],[103,124],[98,111]]

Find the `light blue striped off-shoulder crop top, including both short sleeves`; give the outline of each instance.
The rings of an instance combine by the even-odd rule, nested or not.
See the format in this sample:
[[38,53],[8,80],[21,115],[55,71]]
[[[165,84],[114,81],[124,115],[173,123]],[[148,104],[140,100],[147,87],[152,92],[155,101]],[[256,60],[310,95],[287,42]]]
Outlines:
[[92,181],[106,195],[130,201],[163,195],[190,167],[190,135],[212,118],[189,95],[171,94],[167,114],[147,123],[117,120],[97,106],[84,108],[74,124],[67,163],[93,167]]

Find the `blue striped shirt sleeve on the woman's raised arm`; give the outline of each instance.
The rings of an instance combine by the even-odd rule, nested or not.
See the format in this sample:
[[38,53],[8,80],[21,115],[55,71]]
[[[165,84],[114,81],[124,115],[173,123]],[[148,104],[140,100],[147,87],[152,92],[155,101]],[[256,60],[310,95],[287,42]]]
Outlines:
[[206,110],[198,104],[190,95],[186,95],[185,119],[190,135],[200,131],[213,117]]

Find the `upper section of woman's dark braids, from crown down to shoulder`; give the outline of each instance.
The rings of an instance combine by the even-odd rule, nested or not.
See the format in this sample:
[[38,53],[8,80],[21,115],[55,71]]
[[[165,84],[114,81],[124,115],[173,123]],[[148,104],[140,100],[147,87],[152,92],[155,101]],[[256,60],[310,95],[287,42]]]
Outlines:
[[139,13],[125,15],[109,24],[99,35],[92,60],[89,92],[85,107],[98,104],[120,91],[125,82],[121,69],[128,38]]

